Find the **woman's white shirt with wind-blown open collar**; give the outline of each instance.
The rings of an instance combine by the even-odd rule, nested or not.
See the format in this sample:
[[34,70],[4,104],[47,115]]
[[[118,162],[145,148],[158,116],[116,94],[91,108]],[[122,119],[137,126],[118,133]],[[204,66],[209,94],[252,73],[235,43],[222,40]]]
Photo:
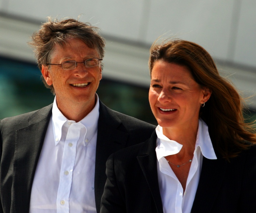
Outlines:
[[[177,154],[181,150],[182,145],[164,136],[163,129],[159,125],[156,127],[156,134],[157,173],[163,211],[164,213],[189,213],[191,212],[199,183],[203,156],[208,159],[217,159],[211,144],[208,126],[203,120],[199,119],[195,151],[186,182],[185,192],[183,192],[181,183],[175,176],[166,158],[164,158],[164,156]],[[180,169],[182,169],[182,167],[180,167]]]

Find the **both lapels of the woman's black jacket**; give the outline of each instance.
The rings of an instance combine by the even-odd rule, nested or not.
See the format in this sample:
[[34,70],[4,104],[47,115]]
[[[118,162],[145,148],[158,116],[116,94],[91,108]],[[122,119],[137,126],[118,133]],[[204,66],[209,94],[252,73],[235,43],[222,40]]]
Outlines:
[[[142,145],[137,159],[149,185],[157,211],[162,213],[163,206],[157,176],[156,138],[156,131],[154,131],[151,138]],[[211,212],[214,201],[218,196],[225,176],[227,162],[217,151],[215,153],[217,159],[203,157],[200,180],[191,212]]]

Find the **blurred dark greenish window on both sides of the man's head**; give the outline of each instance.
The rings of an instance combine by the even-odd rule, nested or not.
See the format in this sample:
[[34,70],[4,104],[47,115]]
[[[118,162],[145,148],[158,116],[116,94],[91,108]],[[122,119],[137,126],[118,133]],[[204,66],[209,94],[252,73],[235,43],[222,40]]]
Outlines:
[[[0,57],[0,119],[40,109],[54,96],[40,79],[35,64]],[[156,124],[148,101],[148,89],[102,79],[100,100],[115,111]]]

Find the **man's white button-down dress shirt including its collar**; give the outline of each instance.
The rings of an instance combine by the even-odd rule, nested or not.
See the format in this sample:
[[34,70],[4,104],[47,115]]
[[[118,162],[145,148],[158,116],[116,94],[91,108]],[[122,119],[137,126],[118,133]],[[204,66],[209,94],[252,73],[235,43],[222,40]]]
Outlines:
[[30,213],[95,213],[95,156],[99,98],[80,122],[53,102],[52,116],[33,179]]

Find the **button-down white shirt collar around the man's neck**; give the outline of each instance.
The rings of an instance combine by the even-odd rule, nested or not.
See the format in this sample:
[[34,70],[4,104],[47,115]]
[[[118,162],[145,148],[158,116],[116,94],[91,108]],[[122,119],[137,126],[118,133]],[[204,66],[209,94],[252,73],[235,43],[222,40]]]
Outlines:
[[[97,126],[98,126],[98,120],[99,120],[99,97],[96,94],[96,104],[95,107],[90,111],[88,115],[85,116],[82,120],[80,120],[78,123],[81,123],[85,129],[86,133],[83,140],[83,145],[86,146],[88,142],[92,139],[92,137],[97,132]],[[53,134],[54,134],[54,141],[55,145],[58,144],[58,142],[61,139],[62,135],[62,127],[66,122],[72,122],[75,123],[74,120],[68,120],[58,109],[56,97],[53,101],[53,109],[52,109],[52,118],[51,118],[52,126],[53,126]]]

